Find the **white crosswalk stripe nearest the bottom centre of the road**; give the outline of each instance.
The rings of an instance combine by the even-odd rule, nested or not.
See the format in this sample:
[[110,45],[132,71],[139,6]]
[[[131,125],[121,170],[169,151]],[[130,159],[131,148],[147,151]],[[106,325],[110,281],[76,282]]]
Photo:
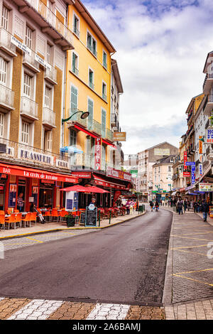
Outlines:
[[129,307],[129,305],[97,303],[86,320],[124,320]]

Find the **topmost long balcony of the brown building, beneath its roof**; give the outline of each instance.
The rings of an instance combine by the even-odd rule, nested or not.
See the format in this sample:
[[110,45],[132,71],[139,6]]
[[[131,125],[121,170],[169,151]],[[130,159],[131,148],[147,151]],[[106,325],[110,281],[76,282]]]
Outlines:
[[41,0],[14,0],[21,13],[26,14],[29,19],[36,21],[43,33],[48,33],[55,44],[61,46],[62,50],[73,49],[72,31],[50,11]]

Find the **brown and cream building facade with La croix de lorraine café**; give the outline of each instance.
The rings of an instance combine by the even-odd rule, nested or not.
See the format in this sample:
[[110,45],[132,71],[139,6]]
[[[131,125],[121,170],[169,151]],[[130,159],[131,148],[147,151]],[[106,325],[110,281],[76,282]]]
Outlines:
[[[60,155],[72,1],[0,1],[0,208],[60,205],[59,188],[77,182]],[[3,149],[4,147],[4,149]]]

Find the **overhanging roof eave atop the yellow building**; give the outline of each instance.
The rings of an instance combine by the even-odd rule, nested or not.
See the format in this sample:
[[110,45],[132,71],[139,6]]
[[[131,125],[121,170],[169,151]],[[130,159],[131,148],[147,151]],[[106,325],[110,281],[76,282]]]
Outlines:
[[75,0],[75,5],[74,6],[77,8],[77,10],[79,11],[79,13],[83,16],[83,18],[87,21],[87,23],[89,23],[89,26],[94,30],[94,32],[100,38],[100,40],[104,44],[105,48],[107,48],[107,50],[110,53],[115,53],[116,49],[111,44],[111,42],[109,41],[109,39],[107,38],[107,36],[104,34],[104,32],[102,31],[102,29],[98,26],[98,24],[96,23],[96,21],[94,21],[94,18],[91,16],[91,14],[89,14],[89,11],[86,9],[86,7],[84,6],[84,4],[82,4],[82,1]]

